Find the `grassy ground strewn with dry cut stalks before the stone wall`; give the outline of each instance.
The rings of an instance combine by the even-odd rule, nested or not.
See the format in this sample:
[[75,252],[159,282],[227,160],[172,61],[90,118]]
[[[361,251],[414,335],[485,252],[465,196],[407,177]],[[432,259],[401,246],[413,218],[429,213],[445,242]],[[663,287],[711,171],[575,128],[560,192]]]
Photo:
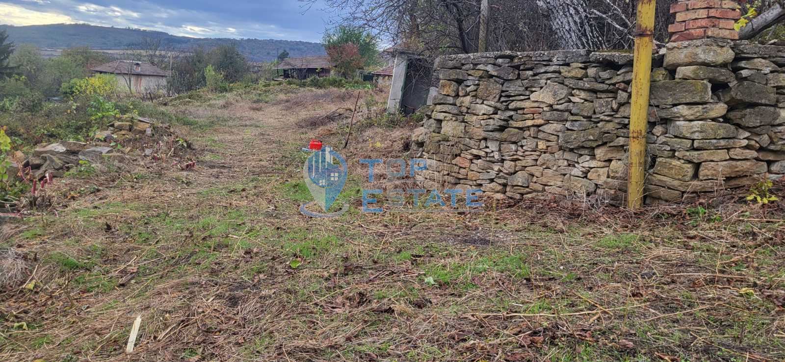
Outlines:
[[321,116],[355,92],[173,101],[195,169],[60,180],[56,211],[3,226],[27,273],[0,294],[0,360],[785,360],[782,205],[366,214],[356,160],[407,149],[369,118],[341,151],[352,208],[300,215],[299,149],[342,143]]

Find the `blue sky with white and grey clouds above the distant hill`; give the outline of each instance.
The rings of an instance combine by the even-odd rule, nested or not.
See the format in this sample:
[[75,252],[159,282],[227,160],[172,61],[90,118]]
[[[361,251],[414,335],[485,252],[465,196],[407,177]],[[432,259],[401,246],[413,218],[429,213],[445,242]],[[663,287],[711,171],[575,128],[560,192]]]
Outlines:
[[[196,38],[319,42],[329,14],[297,0],[0,0],[0,24],[87,23]],[[304,13],[305,12],[305,13]]]

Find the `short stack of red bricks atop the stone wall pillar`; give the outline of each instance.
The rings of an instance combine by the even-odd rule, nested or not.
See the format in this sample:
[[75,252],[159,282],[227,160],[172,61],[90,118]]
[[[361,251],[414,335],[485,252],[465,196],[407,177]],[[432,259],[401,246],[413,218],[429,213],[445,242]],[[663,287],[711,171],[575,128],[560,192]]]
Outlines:
[[670,42],[739,39],[739,32],[733,26],[741,18],[739,4],[744,2],[747,0],[688,0],[670,5],[670,13],[676,16],[676,23],[668,27]]

